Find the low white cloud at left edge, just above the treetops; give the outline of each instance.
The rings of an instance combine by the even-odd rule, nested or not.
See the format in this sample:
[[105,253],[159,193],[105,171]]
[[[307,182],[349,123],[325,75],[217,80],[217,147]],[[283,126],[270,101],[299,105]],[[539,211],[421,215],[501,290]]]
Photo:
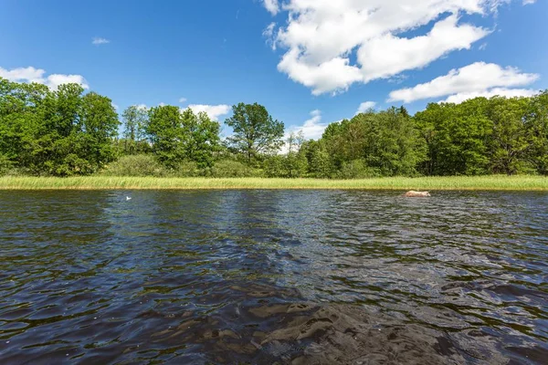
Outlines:
[[41,68],[13,68],[11,70],[0,68],[0,78],[6,78],[14,82],[37,82],[47,85],[50,89],[57,90],[59,85],[76,83],[84,89],[90,89],[90,85],[81,75],[51,74],[45,76],[46,71]]

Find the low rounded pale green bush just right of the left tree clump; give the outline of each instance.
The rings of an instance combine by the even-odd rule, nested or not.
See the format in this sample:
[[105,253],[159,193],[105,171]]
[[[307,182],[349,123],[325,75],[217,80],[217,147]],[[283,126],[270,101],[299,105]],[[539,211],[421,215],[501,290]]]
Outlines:
[[108,176],[163,177],[167,172],[153,156],[148,154],[135,154],[122,156],[118,161],[112,162],[102,174]]

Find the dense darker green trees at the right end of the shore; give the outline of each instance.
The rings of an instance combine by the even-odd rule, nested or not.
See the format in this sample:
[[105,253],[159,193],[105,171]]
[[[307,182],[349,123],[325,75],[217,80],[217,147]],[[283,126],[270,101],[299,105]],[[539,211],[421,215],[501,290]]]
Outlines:
[[427,142],[428,175],[548,171],[548,97],[469,99],[416,113]]

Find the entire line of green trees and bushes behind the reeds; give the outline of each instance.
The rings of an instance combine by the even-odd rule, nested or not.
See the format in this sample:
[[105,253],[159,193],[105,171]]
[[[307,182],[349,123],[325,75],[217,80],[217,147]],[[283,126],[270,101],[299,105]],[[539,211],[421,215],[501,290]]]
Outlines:
[[[284,138],[283,122],[239,103],[225,124],[175,106],[131,106],[77,84],[56,90],[0,78],[0,174],[375,176],[548,174],[548,91],[532,98],[368,110],[319,141]],[[119,133],[119,130],[122,132]],[[279,153],[285,146],[286,152]]]

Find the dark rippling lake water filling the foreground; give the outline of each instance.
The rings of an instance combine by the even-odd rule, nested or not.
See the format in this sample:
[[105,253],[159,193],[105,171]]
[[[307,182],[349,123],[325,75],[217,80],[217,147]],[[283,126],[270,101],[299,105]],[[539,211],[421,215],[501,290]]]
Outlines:
[[2,364],[546,363],[547,281],[545,193],[0,192]]

